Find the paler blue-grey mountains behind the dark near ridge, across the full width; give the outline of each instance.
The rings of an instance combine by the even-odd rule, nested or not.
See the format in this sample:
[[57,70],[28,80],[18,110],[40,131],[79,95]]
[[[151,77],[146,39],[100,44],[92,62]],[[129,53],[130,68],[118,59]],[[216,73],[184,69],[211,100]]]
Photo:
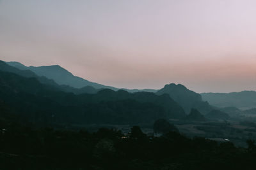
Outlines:
[[[169,94],[169,96],[184,108],[188,114],[191,108],[196,108],[200,113],[207,114],[212,108],[236,107],[239,110],[248,110],[256,107],[256,92],[242,91],[232,93],[202,93],[198,94],[187,89],[184,85],[170,83],[163,89],[118,89],[107,85],[101,85],[92,81],[84,80],[64,69],[59,65],[53,66],[24,66],[20,62],[5,62],[9,66],[3,66],[0,62],[0,70],[10,71],[20,76],[36,77],[40,83],[58,86],[65,92],[74,94],[90,93],[95,94],[101,89],[126,90],[127,92],[154,92],[159,94]],[[211,104],[211,105],[210,105]]]

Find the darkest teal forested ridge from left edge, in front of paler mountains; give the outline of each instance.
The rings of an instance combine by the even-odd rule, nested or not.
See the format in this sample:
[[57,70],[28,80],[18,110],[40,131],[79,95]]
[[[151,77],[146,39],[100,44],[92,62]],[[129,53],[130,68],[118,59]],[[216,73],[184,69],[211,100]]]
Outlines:
[[159,118],[186,115],[166,94],[104,89],[97,94],[76,95],[40,83],[35,77],[3,71],[0,71],[0,96],[4,110],[10,110],[20,121],[41,125],[150,124]]

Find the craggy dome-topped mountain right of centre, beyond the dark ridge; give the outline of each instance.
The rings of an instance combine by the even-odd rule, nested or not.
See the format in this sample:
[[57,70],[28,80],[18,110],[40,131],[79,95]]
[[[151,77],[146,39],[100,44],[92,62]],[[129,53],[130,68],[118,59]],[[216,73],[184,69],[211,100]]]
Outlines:
[[205,101],[202,101],[200,94],[187,89],[184,85],[171,83],[165,85],[163,89],[156,92],[157,95],[168,94],[174,101],[180,104],[182,108],[189,113],[191,108],[196,108],[201,113],[208,113],[212,107]]

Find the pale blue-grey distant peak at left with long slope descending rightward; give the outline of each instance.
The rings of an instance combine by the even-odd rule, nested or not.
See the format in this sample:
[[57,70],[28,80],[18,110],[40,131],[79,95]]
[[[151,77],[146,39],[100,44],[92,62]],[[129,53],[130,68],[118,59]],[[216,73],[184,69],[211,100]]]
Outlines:
[[38,76],[45,76],[46,78],[54,80],[59,85],[69,85],[70,87],[74,87],[77,89],[80,89],[82,87],[91,86],[95,89],[112,89],[112,90],[118,90],[115,87],[110,87],[106,85],[100,85],[98,83],[93,83],[88,80],[84,80],[83,78],[80,78],[78,76],[74,76],[72,73],[68,72],[66,69],[59,65],[53,65],[53,66],[40,66],[40,67],[34,67],[29,66],[26,67],[20,62],[6,62],[10,66],[17,67],[22,70],[30,70],[33,71]]

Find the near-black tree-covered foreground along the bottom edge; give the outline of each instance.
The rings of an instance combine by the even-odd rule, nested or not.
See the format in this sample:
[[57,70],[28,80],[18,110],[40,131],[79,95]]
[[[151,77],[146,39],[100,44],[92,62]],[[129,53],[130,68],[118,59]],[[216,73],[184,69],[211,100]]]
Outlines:
[[146,136],[132,127],[63,131],[19,124],[1,127],[0,169],[255,169],[256,148],[186,138],[178,132]]

